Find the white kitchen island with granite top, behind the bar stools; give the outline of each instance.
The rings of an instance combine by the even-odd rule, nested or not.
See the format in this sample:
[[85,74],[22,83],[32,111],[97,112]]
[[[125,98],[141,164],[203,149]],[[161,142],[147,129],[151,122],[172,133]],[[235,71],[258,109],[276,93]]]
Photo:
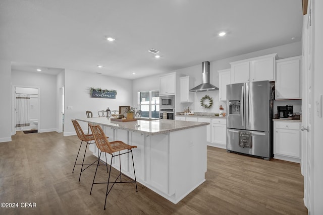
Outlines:
[[[131,122],[111,121],[109,117],[77,118],[83,127],[90,122],[103,126],[110,141],[121,140],[133,149],[136,179],[173,203],[178,203],[205,181],[206,125],[167,119],[138,119]],[[98,149],[90,150],[98,157]],[[105,162],[105,155],[100,158]],[[107,162],[111,156],[107,154]],[[131,155],[113,160],[113,167],[134,178]]]

